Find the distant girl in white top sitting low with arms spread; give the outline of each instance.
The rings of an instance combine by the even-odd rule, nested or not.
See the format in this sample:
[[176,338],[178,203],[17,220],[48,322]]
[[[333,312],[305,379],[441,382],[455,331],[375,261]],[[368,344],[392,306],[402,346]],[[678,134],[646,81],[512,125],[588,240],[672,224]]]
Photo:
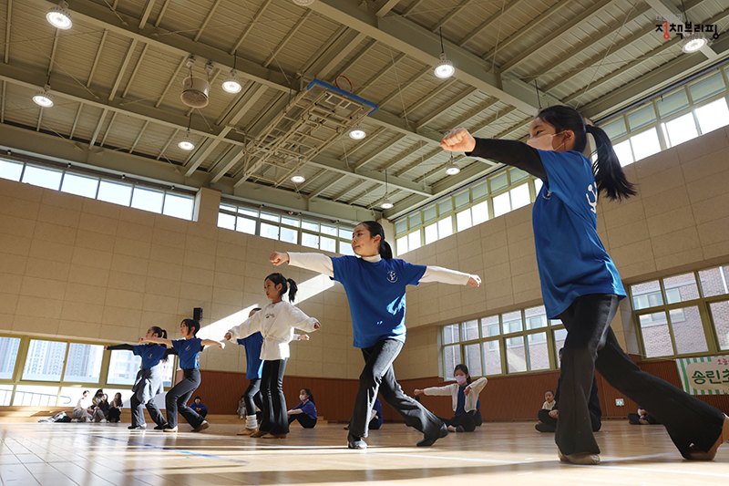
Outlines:
[[453,372],[456,383],[445,387],[431,387],[416,389],[416,395],[450,395],[453,398],[453,411],[455,415],[450,419],[441,419],[451,432],[473,432],[478,425],[481,425],[481,411],[478,394],[486,387],[488,379],[478,378],[471,382],[468,374],[468,367],[464,364],[456,365]]

